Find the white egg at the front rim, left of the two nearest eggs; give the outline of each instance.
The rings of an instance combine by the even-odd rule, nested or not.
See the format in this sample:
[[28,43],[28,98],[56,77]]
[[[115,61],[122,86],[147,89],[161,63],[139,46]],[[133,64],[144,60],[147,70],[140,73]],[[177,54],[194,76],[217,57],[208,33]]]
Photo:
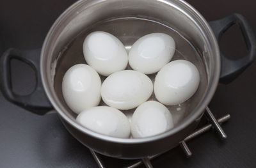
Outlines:
[[108,106],[92,107],[81,112],[76,120],[84,127],[111,137],[128,138],[131,128],[127,117]]

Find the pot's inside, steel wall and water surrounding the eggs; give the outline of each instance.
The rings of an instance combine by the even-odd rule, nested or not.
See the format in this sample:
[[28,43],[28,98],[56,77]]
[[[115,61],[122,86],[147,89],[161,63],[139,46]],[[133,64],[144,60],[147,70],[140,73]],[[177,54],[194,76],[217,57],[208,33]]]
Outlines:
[[[194,11],[180,1],[79,1],[58,19],[45,42],[44,56],[47,58],[42,65],[45,66],[47,85],[54,103],[74,121],[76,114],[63,100],[61,82],[70,66],[86,63],[83,40],[90,32],[114,34],[124,43],[127,51],[141,36],[161,32],[173,36],[176,42],[177,50],[172,60],[191,61],[200,72],[200,86],[195,95],[182,105],[168,107],[176,121],[189,118],[207,95],[207,88],[214,80],[214,64],[217,63],[214,57],[216,51],[212,50],[214,43],[207,39],[211,32],[200,22],[200,18],[191,18],[194,15]],[[150,75],[150,78],[153,80],[155,75]],[[150,99],[154,100],[154,95]],[[130,116],[132,111],[134,109],[124,112]]]

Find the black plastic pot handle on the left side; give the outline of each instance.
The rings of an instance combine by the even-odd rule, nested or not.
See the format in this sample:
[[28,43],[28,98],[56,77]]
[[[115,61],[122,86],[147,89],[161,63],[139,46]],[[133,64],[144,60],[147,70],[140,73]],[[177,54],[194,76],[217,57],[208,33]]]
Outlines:
[[[0,89],[4,97],[12,103],[36,114],[43,115],[52,109],[45,95],[40,77],[40,51],[8,49],[0,60]],[[36,72],[36,87],[29,95],[21,96],[13,93],[11,77],[11,60],[18,59],[33,68]]]

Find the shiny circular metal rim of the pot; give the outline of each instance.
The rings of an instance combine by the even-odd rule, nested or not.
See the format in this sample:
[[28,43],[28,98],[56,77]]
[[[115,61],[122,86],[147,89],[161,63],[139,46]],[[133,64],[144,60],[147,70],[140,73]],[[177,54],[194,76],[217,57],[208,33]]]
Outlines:
[[[158,0],[158,1],[160,1],[161,3],[165,3],[169,6],[173,6],[173,4],[169,3],[168,0]],[[44,61],[44,57],[45,57],[45,49],[47,48],[47,43],[48,43],[49,39],[51,38],[52,33],[54,32],[54,29],[56,29],[56,27],[59,26],[61,20],[63,20],[68,15],[68,13],[70,11],[74,10],[74,8],[81,5],[83,2],[84,2],[83,0],[79,0],[76,3],[72,4],[72,6],[70,6],[67,10],[65,10],[60,15],[60,17],[54,22],[54,24],[52,25],[50,31],[48,32],[48,34],[45,38],[44,45],[42,47],[41,57],[40,57],[40,73],[42,76],[42,83],[43,83],[43,86],[45,89],[45,93],[48,96],[50,102],[52,103],[54,109],[56,109],[58,114],[60,114],[61,118],[65,119],[65,121],[67,121],[70,125],[74,126],[77,130],[83,132],[84,134],[91,135],[92,137],[95,137],[97,139],[102,139],[103,141],[124,143],[124,144],[140,144],[143,142],[157,141],[159,139],[163,139],[165,137],[172,136],[173,134],[176,134],[177,132],[180,132],[180,130],[186,128],[186,126],[193,123],[193,121],[195,121],[197,118],[200,117],[202,112],[204,112],[205,107],[211,101],[211,98],[214,95],[216,88],[218,86],[218,81],[219,81],[219,77],[220,77],[220,50],[218,47],[218,42],[214,36],[214,33],[212,32],[211,27],[209,26],[207,21],[204,19],[204,17],[202,17],[202,15],[197,10],[195,10],[195,8],[193,8],[193,6],[186,3],[186,1],[179,0],[179,1],[177,1],[177,3],[180,3],[182,6],[185,6],[186,8],[188,8],[188,10],[192,11],[195,14],[194,16],[196,16],[197,19],[199,19],[202,22],[202,24],[205,26],[205,29],[207,29],[209,31],[209,34],[210,34],[209,38],[211,38],[211,40],[214,44],[214,49],[212,49],[212,50],[216,50],[216,55],[215,55],[215,57],[216,57],[216,67],[215,67],[216,72],[215,72],[214,79],[212,80],[212,83],[211,83],[211,88],[208,88],[208,86],[209,86],[209,84],[208,84],[208,86],[207,86],[208,89],[207,89],[207,91],[205,91],[202,101],[191,112],[191,113],[193,113],[193,115],[191,115],[191,117],[185,118],[182,122],[179,123],[179,125],[175,126],[175,128],[172,128],[168,132],[164,132],[163,134],[154,135],[152,137],[145,137],[145,138],[141,138],[141,139],[120,139],[120,138],[116,138],[116,137],[109,137],[107,135],[98,134],[96,132],[93,132],[91,130],[84,128],[83,126],[79,125],[72,119],[68,118],[68,116],[66,114],[64,114],[61,111],[60,107],[58,107],[58,105],[55,103],[54,98],[51,95],[51,89],[49,88],[49,86],[47,86],[47,81],[44,78],[46,74],[44,71],[43,61]],[[184,13],[186,13],[186,12],[184,12]],[[188,13],[187,13],[187,15],[188,15]],[[188,15],[188,17],[191,18],[191,16],[189,16],[189,15]]]

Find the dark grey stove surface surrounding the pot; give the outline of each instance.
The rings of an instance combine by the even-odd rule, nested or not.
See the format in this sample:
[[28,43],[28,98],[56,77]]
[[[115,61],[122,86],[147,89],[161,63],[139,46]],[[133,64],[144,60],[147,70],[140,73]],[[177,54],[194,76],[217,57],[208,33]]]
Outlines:
[[[35,49],[54,20],[75,1],[8,0],[0,1],[0,39],[3,49]],[[256,33],[256,2],[251,0],[189,0],[207,20],[241,13]],[[221,40],[220,48],[229,57],[246,54],[243,38],[236,26]],[[13,61],[13,89],[26,94],[35,86],[30,68]],[[217,117],[230,113],[223,125],[227,141],[215,132],[207,132],[188,142],[193,157],[186,158],[180,148],[152,160],[155,167],[256,167],[256,63],[234,82],[220,85],[209,107]],[[61,124],[57,114],[36,116],[12,103],[0,93],[0,167],[97,167],[90,151],[76,141]],[[107,167],[128,164],[103,157]]]

